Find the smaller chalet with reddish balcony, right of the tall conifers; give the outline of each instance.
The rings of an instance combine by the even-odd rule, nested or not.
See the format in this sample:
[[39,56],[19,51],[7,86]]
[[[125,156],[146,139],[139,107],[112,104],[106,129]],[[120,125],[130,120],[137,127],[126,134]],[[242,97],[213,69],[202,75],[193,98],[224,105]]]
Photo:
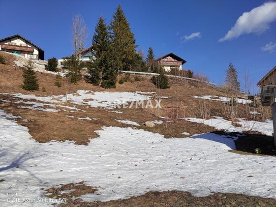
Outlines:
[[164,68],[166,72],[171,70],[182,70],[182,65],[186,63],[181,57],[172,52],[156,59],[158,63]]

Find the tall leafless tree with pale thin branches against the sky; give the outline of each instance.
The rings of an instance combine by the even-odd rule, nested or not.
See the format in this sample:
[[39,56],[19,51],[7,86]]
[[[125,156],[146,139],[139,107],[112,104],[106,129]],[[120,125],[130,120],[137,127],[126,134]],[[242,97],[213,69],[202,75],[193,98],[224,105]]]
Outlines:
[[79,14],[73,16],[72,33],[75,56],[80,60],[81,52],[84,49],[89,32],[84,19]]

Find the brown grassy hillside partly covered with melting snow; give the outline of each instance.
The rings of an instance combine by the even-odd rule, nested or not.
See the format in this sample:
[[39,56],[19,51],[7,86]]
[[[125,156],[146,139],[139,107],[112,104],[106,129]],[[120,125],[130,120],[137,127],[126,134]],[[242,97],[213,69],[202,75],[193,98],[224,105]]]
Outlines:
[[[68,206],[74,206],[79,200],[72,189],[79,186],[81,192],[74,196],[86,201],[83,206],[128,198],[137,205],[152,193],[133,196],[173,190],[194,196],[246,194],[243,203],[257,199],[263,206],[275,201],[249,197],[276,198],[275,157],[267,150],[273,144],[270,108],[261,107],[257,97],[252,101],[238,94],[233,101],[222,87],[177,78],[170,78],[170,88],[157,90],[151,77],[142,75],[139,81],[131,75],[131,81],[117,82],[112,89],[84,79],[72,84],[66,77],[56,87],[55,74],[47,72],[36,72],[40,90],[27,92],[21,88],[23,69],[15,64],[16,56],[0,55],[6,60],[0,64],[1,147],[6,156],[0,167],[15,169],[13,176],[21,170],[16,186],[25,197],[48,193],[66,197]],[[158,100],[162,108],[155,108]],[[149,101],[154,108],[134,107]],[[147,121],[155,126],[146,126]],[[270,156],[254,154],[257,147]],[[0,171],[4,188],[12,184],[9,172]],[[32,187],[25,191],[28,179]],[[62,194],[65,190],[71,192]],[[155,196],[163,199],[163,194]],[[166,202],[179,196],[205,202],[205,197],[181,192]],[[226,196],[229,204],[241,195]],[[117,206],[130,200],[119,200]],[[117,201],[110,202],[107,206]]]

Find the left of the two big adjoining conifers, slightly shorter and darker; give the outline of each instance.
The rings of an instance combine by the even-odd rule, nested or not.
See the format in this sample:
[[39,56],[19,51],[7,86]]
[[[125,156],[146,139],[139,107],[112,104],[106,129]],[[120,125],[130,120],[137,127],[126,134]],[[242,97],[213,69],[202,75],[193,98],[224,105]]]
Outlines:
[[87,79],[93,84],[111,88],[116,86],[117,71],[114,69],[114,56],[111,46],[110,33],[102,17],[95,28],[93,36],[94,58],[88,64],[89,76]]

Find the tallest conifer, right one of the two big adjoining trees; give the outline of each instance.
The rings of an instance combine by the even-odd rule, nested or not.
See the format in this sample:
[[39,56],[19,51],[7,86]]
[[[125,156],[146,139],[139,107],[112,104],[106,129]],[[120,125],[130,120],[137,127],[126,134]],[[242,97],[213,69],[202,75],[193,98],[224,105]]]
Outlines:
[[131,32],[130,24],[120,5],[110,22],[110,29],[116,69],[131,70],[134,65],[137,45],[135,45],[134,34]]

